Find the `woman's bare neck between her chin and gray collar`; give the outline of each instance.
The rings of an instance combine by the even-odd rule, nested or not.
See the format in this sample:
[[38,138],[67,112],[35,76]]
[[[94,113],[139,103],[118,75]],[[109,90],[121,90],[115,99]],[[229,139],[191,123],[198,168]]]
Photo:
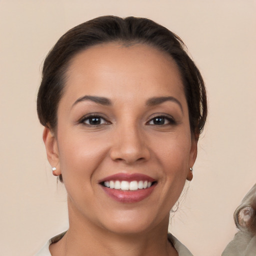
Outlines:
[[167,240],[168,216],[150,230],[120,234],[91,223],[83,216],[75,214],[71,207],[68,207],[68,213],[69,229],[61,240],[50,246],[53,256],[178,255]]

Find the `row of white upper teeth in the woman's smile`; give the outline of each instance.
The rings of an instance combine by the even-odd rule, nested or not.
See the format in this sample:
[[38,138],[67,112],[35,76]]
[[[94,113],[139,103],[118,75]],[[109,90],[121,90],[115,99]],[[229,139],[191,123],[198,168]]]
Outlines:
[[114,188],[114,189],[121,189],[121,190],[137,190],[137,189],[143,189],[148,188],[152,185],[151,181],[143,181],[143,180],[133,180],[133,181],[126,181],[126,180],[109,180],[104,181],[104,186],[108,188]]

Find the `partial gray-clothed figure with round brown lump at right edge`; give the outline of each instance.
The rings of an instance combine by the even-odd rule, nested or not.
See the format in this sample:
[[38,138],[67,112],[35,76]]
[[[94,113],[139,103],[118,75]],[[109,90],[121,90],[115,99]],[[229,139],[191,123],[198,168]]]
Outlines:
[[230,241],[222,256],[255,256],[256,254],[256,184],[234,211],[234,222],[239,231]]

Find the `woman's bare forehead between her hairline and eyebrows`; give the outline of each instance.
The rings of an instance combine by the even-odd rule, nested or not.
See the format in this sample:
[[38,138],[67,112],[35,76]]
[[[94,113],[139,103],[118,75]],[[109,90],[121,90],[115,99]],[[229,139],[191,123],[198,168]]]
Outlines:
[[184,94],[175,61],[166,53],[139,43],[99,44],[76,54],[66,72],[64,96],[66,93],[73,97],[97,94],[122,98]]

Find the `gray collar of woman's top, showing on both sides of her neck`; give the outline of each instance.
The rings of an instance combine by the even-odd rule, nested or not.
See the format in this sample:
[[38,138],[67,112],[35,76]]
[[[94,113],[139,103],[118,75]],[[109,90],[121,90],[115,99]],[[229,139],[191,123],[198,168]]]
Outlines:
[[[49,239],[46,244],[34,255],[34,256],[51,256],[50,251],[49,251],[49,245],[53,242],[57,242],[60,240],[65,232],[60,233],[51,239]],[[168,239],[169,241],[173,244],[174,248],[178,252],[179,256],[193,256],[191,252],[177,239],[175,238],[172,234],[168,234]],[[255,255],[253,255],[255,256]]]

